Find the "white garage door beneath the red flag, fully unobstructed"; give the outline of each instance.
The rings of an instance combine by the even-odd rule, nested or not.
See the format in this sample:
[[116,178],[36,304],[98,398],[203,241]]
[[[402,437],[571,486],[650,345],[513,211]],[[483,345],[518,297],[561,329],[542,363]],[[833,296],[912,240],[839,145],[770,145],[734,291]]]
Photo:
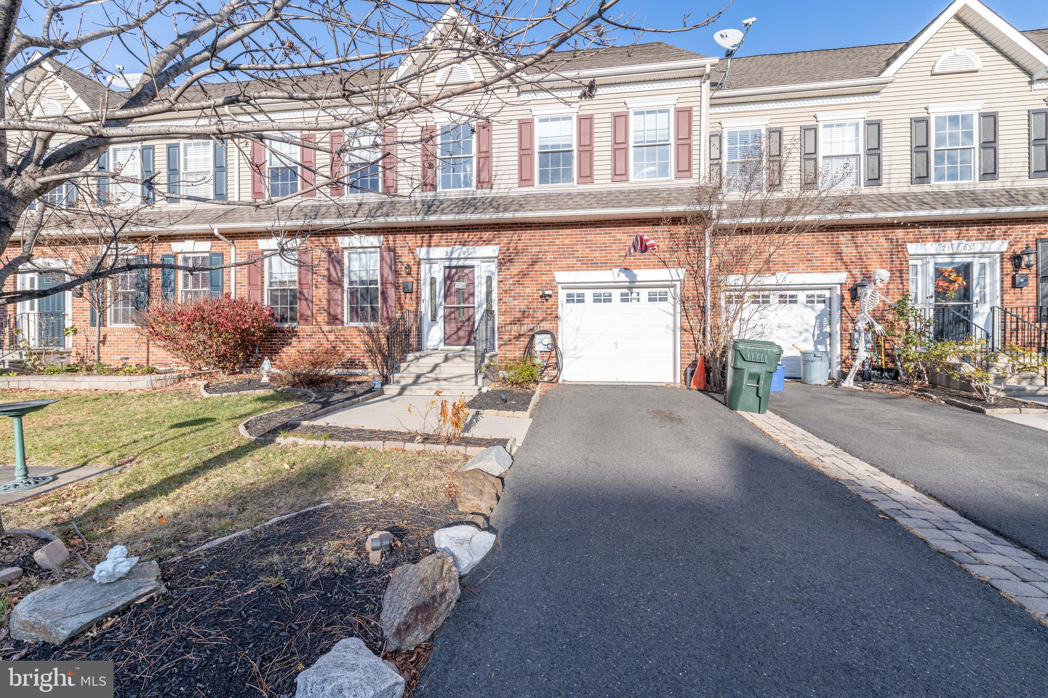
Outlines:
[[673,296],[669,287],[562,290],[561,378],[675,383]]

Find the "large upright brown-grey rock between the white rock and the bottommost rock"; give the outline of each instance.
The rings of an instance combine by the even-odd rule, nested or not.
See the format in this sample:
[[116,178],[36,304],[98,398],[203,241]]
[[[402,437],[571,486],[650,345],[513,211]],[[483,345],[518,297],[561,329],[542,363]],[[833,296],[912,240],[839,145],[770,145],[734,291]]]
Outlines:
[[386,649],[413,650],[428,640],[451,615],[460,593],[455,560],[447,553],[394,569],[379,616]]

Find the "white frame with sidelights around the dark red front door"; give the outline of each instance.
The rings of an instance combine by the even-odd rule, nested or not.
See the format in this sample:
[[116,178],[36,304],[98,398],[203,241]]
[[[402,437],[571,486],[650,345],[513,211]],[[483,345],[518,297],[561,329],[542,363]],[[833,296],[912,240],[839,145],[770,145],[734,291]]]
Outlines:
[[[484,245],[471,247],[419,247],[419,297],[418,307],[422,312],[423,350],[466,350],[473,346],[446,346],[444,344],[444,269],[446,267],[472,267],[474,271],[474,300],[479,320],[486,302],[486,278],[492,276],[492,308],[499,307],[499,246]],[[430,297],[430,278],[436,278],[436,301]],[[430,319],[430,318],[434,319]],[[498,350],[498,313],[495,314],[496,350]]]

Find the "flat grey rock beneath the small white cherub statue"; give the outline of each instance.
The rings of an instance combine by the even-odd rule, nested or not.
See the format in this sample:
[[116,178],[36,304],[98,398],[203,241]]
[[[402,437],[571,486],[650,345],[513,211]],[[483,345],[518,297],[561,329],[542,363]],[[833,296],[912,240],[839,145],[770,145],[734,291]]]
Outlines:
[[165,591],[156,561],[135,565],[111,584],[89,577],[34,591],[10,614],[10,636],[61,645],[139,599]]

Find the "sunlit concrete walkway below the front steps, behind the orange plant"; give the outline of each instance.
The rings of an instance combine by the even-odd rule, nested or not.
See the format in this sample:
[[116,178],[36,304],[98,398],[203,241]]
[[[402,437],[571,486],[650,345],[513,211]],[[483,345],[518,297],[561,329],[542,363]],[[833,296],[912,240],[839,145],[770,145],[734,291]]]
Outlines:
[[[438,423],[439,407],[431,408],[427,415],[427,405],[435,400],[439,402],[440,399],[435,396],[384,396],[325,414],[312,422],[334,427],[393,431],[418,431],[424,425],[425,431],[433,431]],[[464,433],[471,436],[514,436],[521,444],[529,426],[531,420],[525,418],[474,414],[466,423]]]

